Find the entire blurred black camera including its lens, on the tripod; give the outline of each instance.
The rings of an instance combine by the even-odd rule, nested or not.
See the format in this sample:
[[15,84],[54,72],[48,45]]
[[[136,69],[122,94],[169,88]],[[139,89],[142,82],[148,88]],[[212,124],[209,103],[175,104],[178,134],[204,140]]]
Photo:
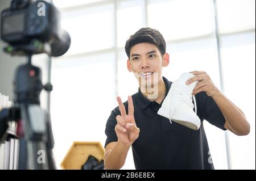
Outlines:
[[70,47],[67,31],[60,27],[60,13],[46,1],[13,0],[1,13],[1,39],[10,45],[29,44],[32,39],[51,45],[51,56]]

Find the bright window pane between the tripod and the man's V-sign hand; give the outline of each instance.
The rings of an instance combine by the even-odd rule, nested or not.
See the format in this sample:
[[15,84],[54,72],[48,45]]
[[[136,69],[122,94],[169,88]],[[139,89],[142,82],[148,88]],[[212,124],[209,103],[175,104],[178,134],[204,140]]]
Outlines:
[[105,125],[114,107],[114,54],[55,60],[51,119],[56,166],[73,141],[105,144]]

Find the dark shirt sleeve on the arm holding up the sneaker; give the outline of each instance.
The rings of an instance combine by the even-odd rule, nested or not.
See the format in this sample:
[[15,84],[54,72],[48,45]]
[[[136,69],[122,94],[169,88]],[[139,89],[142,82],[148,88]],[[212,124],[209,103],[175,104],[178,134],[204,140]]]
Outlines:
[[224,128],[226,120],[212,97],[208,96],[206,92],[203,91],[196,95],[196,100],[200,119],[205,119],[210,124],[222,130],[226,130],[226,128]]

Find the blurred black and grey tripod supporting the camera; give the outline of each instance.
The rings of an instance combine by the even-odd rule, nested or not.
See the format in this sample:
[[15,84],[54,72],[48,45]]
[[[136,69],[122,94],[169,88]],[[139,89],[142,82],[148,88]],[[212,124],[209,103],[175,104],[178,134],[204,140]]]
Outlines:
[[[35,43],[36,42],[36,43]],[[42,85],[42,71],[31,64],[32,54],[50,54],[48,44],[32,40],[30,44],[13,45],[5,51],[26,55],[27,64],[19,66],[15,73],[14,107],[0,112],[0,141],[6,139],[9,121],[16,121],[19,138],[18,169],[56,169],[52,154],[54,145],[50,115],[40,107],[40,92],[52,90],[51,83]]]

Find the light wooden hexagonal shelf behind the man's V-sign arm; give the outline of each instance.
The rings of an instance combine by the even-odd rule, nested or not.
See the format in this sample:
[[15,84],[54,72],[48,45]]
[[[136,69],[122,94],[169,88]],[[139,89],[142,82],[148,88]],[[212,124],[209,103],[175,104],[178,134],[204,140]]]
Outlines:
[[93,155],[99,161],[104,158],[105,149],[101,142],[73,142],[65,158],[61,162],[61,168],[67,170],[81,170],[89,155]]

